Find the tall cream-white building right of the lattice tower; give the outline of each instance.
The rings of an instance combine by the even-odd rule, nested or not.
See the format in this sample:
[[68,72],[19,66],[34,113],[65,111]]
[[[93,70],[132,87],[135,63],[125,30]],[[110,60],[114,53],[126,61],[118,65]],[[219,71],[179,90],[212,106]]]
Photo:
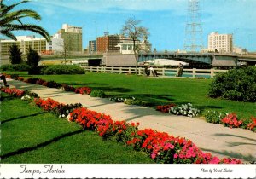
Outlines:
[[208,51],[231,53],[233,51],[232,34],[218,34],[212,32],[208,35]]

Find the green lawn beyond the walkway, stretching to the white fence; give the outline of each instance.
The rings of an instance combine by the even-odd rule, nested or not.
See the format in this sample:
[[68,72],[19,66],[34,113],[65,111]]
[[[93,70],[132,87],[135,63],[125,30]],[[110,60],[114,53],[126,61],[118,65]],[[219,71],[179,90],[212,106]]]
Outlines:
[[217,110],[224,113],[237,113],[239,118],[256,116],[256,103],[212,99],[207,96],[211,79],[190,78],[147,78],[143,76],[87,72],[85,75],[38,75],[29,76],[19,73],[25,78],[38,77],[54,80],[73,86],[88,86],[92,89],[104,90],[108,96],[133,95],[151,102],[152,107],[166,103],[191,102],[202,112]]

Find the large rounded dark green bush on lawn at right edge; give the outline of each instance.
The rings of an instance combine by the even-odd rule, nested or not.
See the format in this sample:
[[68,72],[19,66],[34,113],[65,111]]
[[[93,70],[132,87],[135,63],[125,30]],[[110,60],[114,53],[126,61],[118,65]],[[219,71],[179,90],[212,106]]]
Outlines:
[[256,66],[233,69],[216,75],[210,84],[210,97],[234,101],[256,101]]

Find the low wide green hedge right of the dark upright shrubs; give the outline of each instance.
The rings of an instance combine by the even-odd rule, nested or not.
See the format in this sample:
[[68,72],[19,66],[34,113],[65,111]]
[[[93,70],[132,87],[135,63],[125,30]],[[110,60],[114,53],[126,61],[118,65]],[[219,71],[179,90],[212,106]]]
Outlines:
[[44,66],[42,74],[84,74],[85,71],[80,66],[76,65],[51,65]]

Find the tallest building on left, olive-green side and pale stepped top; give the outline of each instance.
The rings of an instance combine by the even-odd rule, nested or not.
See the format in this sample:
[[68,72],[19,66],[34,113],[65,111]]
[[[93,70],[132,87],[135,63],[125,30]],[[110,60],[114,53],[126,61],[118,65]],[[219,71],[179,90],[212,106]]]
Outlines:
[[83,52],[82,27],[63,24],[58,32],[68,52]]

